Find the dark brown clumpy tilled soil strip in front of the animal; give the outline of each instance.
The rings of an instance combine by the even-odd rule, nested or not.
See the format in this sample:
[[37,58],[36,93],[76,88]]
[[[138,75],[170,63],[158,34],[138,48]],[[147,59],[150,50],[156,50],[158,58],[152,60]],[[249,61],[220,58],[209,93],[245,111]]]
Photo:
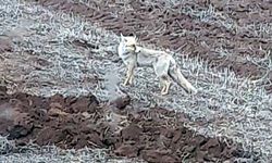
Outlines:
[[129,97],[99,104],[91,93],[44,98],[7,95],[7,88],[1,87],[0,103],[0,134],[17,146],[33,140],[63,149],[107,148],[112,155],[139,156],[148,162],[233,162],[252,158],[228,139],[207,138],[189,130],[183,114],[159,108],[133,112]]

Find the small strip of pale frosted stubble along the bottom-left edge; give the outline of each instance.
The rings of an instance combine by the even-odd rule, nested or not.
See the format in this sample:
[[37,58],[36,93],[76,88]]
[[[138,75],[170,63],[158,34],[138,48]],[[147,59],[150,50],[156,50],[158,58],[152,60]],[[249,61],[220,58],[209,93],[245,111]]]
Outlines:
[[[10,152],[10,149],[14,148],[11,141],[8,141],[4,137],[0,137],[0,155],[1,163],[17,163],[17,162],[50,162],[50,163],[74,163],[74,162],[114,162],[126,163],[137,162],[144,163],[144,161],[136,159],[113,158],[107,154],[106,149],[89,149],[84,148],[81,150],[62,150],[55,146],[38,147],[29,143],[26,147],[20,147],[15,149],[16,152]],[[3,147],[10,147],[9,149]],[[35,159],[34,159],[35,158]]]

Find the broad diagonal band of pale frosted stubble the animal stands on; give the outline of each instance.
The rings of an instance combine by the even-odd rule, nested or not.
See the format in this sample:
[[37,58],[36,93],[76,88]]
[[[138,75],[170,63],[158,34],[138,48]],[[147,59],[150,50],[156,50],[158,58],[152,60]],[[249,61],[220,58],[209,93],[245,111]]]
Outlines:
[[[136,70],[134,86],[122,87],[124,65],[116,53],[119,36],[75,15],[39,5],[17,0],[0,0],[0,35],[13,41],[14,52],[4,53],[0,65],[1,75],[15,82],[9,85],[11,90],[41,96],[95,90],[101,101],[125,91],[138,108],[159,105],[184,112],[191,120],[188,126],[200,134],[227,136],[243,142],[247,150],[272,155],[272,130],[268,127],[272,125],[272,97],[263,86],[238,78],[227,68],[211,70],[201,60],[177,58],[171,52],[199,89],[198,95],[188,96],[173,85],[169,96],[160,97],[158,79],[146,67]],[[196,126],[196,121],[203,123]]]

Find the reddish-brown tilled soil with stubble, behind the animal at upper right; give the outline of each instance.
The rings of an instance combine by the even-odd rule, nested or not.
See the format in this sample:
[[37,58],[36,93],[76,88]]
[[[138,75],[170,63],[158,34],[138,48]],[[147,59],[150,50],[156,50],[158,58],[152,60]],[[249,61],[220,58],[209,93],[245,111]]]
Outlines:
[[[143,42],[207,60],[211,67],[228,67],[236,75],[259,78],[268,68],[246,60],[245,57],[263,58],[271,50],[271,36],[261,36],[263,34],[246,26],[271,22],[269,9],[272,4],[269,1],[251,1],[224,4],[217,0],[210,3],[205,0],[171,4],[161,0],[86,3],[38,0],[44,7],[84,15],[88,21],[99,23],[101,27],[118,35],[135,34]],[[205,17],[201,21],[201,15],[193,14],[193,11],[209,9],[209,4],[217,14],[202,13],[206,21]],[[220,14],[224,16],[219,16]],[[227,27],[227,23],[231,27]],[[265,88],[271,91],[272,72],[267,77],[269,82],[265,83]]]

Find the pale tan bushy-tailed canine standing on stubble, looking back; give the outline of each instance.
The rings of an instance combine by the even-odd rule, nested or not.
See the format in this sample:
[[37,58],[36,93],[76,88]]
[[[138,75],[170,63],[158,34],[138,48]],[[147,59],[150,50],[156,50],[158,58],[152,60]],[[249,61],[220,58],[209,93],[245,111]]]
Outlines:
[[197,89],[184,77],[171,54],[138,46],[136,36],[123,36],[123,34],[120,36],[118,53],[126,66],[124,86],[133,85],[136,67],[149,66],[153,68],[156,76],[159,78],[161,96],[169,95],[171,79],[184,88],[187,93],[197,93]]

